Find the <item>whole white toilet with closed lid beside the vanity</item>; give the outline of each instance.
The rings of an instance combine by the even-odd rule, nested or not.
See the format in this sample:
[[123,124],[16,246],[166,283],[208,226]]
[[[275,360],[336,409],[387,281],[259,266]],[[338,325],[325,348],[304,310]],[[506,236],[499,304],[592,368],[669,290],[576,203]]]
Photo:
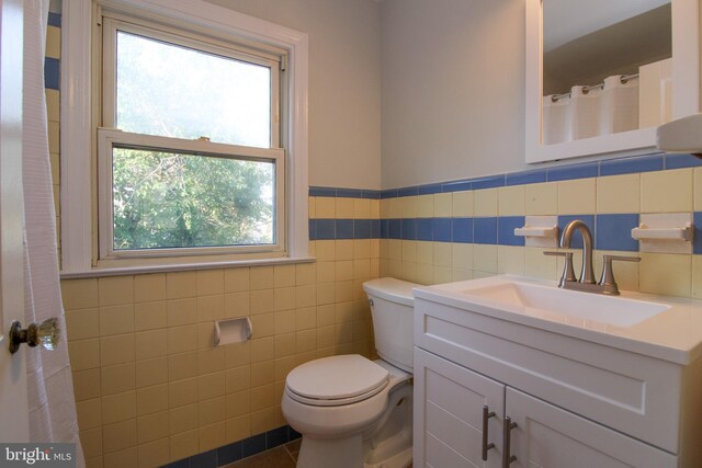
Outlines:
[[381,356],[322,357],[294,368],[282,410],[303,435],[298,468],[405,468],[412,456],[412,287],[363,284]]

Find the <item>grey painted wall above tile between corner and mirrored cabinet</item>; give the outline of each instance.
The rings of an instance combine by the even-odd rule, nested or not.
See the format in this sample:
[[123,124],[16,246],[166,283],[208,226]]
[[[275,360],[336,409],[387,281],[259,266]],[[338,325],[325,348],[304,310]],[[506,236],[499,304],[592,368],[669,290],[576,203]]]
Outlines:
[[523,0],[383,0],[383,187],[524,169]]

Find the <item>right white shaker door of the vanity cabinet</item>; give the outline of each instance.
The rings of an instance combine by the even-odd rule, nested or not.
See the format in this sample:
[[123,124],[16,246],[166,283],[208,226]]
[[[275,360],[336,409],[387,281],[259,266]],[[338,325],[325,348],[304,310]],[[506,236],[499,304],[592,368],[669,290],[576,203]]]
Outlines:
[[510,467],[610,468],[677,466],[677,457],[513,388],[507,388]]

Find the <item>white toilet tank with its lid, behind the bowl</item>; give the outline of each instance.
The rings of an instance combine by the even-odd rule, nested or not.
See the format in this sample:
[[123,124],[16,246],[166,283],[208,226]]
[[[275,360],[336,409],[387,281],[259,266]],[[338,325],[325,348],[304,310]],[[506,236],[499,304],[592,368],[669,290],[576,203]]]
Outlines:
[[363,283],[369,296],[375,349],[383,361],[412,372],[415,283],[396,278],[378,278]]

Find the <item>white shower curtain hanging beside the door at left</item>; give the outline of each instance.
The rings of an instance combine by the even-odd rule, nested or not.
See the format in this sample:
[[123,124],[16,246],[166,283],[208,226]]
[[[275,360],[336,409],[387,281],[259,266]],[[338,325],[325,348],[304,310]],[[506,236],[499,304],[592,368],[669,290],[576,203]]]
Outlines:
[[83,467],[59,287],[56,214],[48,157],[44,96],[48,0],[25,0],[24,15],[24,320],[26,326],[56,317],[63,332],[55,351],[37,346],[27,352],[30,440],[76,443],[78,466]]

